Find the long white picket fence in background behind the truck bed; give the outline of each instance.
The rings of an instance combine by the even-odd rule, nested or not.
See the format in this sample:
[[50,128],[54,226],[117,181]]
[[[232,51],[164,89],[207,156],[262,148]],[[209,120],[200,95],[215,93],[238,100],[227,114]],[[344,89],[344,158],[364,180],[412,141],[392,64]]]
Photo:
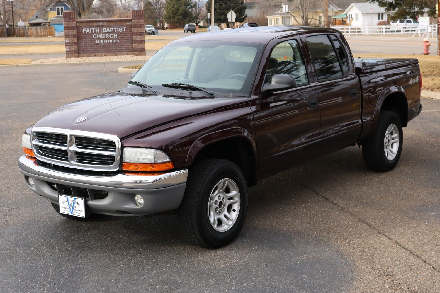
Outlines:
[[394,35],[396,37],[436,37],[437,26],[418,28],[418,26],[331,26],[347,36]]

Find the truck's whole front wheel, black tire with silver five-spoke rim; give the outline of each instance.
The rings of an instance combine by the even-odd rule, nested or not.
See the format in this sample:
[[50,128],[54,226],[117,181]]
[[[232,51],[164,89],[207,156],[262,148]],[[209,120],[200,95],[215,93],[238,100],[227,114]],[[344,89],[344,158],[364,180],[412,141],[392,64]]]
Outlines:
[[208,248],[227,245],[242,230],[247,207],[247,183],[237,165],[222,159],[196,163],[178,211],[183,236]]

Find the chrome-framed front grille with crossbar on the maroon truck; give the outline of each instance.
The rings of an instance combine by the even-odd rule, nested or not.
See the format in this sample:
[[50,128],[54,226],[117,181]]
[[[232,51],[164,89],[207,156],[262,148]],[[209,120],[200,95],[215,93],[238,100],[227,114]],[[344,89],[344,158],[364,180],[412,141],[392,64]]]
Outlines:
[[97,132],[34,127],[32,148],[37,159],[71,168],[116,171],[121,159],[119,138]]

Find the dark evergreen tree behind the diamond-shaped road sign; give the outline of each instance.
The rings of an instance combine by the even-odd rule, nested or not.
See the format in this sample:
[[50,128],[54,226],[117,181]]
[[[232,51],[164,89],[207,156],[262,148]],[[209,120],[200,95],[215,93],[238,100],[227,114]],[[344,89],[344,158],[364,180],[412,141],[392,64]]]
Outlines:
[[[227,13],[231,10],[235,12],[235,22],[243,22],[246,19],[244,0],[214,0],[214,22],[226,23],[229,27]],[[211,0],[206,1],[206,11],[211,12]]]

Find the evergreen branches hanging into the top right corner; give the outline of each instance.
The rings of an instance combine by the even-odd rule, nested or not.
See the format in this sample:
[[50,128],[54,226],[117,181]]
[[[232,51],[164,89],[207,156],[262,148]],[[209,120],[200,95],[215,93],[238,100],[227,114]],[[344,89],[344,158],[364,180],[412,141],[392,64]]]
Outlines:
[[380,7],[385,7],[385,11],[395,11],[392,15],[390,15],[392,20],[406,18],[416,19],[418,15],[423,15],[425,12],[432,17],[436,17],[437,15],[437,0],[370,0],[370,2],[376,2]]

